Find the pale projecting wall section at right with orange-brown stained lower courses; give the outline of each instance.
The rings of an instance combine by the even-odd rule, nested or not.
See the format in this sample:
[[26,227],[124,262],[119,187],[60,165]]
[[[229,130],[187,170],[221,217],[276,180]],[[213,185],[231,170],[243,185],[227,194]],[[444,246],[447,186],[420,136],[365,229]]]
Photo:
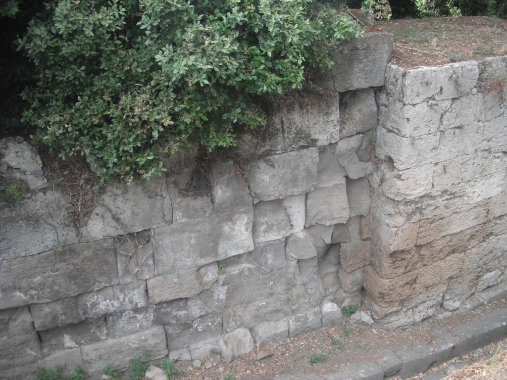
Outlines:
[[386,326],[507,295],[506,89],[507,57],[388,66],[364,294]]

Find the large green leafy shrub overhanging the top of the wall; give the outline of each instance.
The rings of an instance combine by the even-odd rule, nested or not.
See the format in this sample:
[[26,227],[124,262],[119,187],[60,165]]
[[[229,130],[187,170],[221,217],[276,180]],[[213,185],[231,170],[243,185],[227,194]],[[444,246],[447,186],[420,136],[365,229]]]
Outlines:
[[235,144],[265,123],[262,100],[300,89],[305,70],[355,21],[313,0],[57,0],[20,47],[34,141],[84,154],[103,178],[165,170],[162,157]]

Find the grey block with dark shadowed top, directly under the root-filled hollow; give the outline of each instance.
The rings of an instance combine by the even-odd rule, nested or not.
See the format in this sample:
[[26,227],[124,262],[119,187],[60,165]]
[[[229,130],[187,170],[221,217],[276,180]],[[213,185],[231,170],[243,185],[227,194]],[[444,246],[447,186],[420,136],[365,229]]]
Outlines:
[[213,214],[206,174],[197,166],[189,165],[175,174],[167,174],[166,186],[172,204],[173,223]]

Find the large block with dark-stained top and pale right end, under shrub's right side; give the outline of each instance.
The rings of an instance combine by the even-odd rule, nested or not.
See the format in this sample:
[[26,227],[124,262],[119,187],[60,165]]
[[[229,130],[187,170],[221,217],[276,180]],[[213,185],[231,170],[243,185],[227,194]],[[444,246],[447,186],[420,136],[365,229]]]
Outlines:
[[238,153],[246,156],[283,153],[307,146],[324,146],[338,141],[340,113],[338,94],[322,91],[280,102],[264,131],[245,130],[238,134]]

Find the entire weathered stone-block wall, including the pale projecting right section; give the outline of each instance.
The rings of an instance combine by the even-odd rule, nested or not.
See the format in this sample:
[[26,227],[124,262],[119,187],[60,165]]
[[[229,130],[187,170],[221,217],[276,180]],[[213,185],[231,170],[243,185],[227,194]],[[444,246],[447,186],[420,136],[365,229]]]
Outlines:
[[507,61],[402,70],[391,49],[381,33],[344,43],[325,90],[239,134],[241,164],[171,158],[108,185],[81,226],[37,152],[0,141],[0,170],[33,189],[0,214],[0,378],[201,358],[361,302],[396,327],[504,295]]

